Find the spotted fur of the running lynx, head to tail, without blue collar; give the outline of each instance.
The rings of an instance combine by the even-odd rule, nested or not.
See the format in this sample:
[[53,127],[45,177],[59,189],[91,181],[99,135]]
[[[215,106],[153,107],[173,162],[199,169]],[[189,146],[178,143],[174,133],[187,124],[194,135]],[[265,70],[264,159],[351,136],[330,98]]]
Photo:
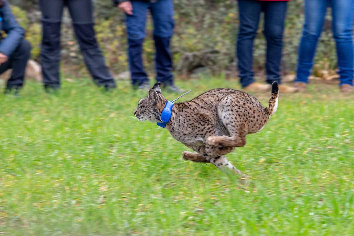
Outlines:
[[[248,93],[217,88],[182,103],[175,103],[166,128],[172,137],[196,153],[183,152],[185,160],[211,162],[221,170],[242,174],[225,157],[246,144],[246,135],[260,131],[278,107],[278,82],[266,108]],[[167,100],[158,84],[142,98],[134,115],[138,120],[161,122]]]

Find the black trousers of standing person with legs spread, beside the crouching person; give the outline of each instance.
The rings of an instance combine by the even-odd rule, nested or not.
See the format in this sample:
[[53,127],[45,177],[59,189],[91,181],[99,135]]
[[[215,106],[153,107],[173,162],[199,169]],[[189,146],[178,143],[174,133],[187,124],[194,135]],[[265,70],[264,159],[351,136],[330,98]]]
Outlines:
[[93,29],[93,6],[91,0],[40,0],[43,38],[41,65],[45,87],[60,87],[60,28],[63,8],[69,8],[80,50],[93,80],[99,86],[115,87],[112,75],[105,65]]

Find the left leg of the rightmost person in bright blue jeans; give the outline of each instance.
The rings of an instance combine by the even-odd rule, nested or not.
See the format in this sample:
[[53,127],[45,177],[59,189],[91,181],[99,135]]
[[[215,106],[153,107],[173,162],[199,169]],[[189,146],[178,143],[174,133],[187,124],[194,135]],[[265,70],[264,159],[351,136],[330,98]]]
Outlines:
[[307,83],[313,65],[317,41],[323,28],[327,0],[305,0],[305,22],[298,49],[295,82]]

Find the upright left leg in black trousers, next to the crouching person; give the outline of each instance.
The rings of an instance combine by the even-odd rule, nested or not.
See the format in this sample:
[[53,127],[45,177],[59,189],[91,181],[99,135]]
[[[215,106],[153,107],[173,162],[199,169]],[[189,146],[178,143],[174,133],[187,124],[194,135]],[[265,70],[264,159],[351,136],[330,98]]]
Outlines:
[[42,11],[42,45],[40,61],[46,88],[60,87],[60,27],[64,0],[40,0]]

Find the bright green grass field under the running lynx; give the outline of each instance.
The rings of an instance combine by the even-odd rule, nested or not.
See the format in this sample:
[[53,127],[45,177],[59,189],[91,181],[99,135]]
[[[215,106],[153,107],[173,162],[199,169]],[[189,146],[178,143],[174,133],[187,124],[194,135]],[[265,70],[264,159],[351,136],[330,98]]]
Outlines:
[[[177,84],[193,91],[181,101],[239,88]],[[21,97],[0,94],[0,236],[354,235],[354,95],[322,84],[280,94],[265,128],[228,155],[249,187],[183,161],[187,147],[138,122],[146,95],[128,82],[105,93],[90,79],[64,81],[57,94],[31,82]]]

